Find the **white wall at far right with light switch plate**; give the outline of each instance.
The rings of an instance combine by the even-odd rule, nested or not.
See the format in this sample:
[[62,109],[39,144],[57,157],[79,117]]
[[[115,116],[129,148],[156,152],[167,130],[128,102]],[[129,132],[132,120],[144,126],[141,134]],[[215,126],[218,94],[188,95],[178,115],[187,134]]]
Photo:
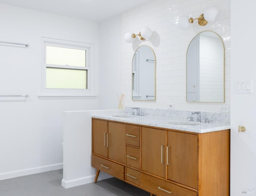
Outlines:
[[[235,93],[236,80],[253,80],[256,85],[255,66],[255,26],[254,18],[243,17],[254,13],[254,0],[231,1],[231,196],[243,196],[242,189],[254,188],[256,195],[256,94]],[[238,133],[238,126],[246,127],[246,132]]]

